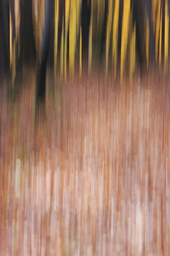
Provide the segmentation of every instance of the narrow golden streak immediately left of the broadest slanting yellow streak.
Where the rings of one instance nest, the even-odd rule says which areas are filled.
[[[114,78],[116,78],[116,70],[117,70],[118,25],[119,25],[119,0],[115,0],[115,8],[114,8],[114,16],[113,16]]]

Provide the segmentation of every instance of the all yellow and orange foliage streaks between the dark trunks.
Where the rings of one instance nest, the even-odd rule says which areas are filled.
[[[158,59],[159,51],[159,67],[161,67],[161,39],[162,39],[162,2],[163,0],[152,0],[152,20],[153,20],[153,33],[155,34],[155,55],[156,61]],[[42,31],[44,24],[44,10],[45,0],[32,0],[33,17],[34,17],[34,36],[36,38],[36,49],[40,56]],[[64,17],[62,20],[62,38],[61,38],[61,54],[60,54],[60,75],[66,79],[66,64],[67,64],[67,41],[69,32],[69,70],[74,75],[74,62],[75,53],[77,47],[77,39],[80,33],[79,40],[79,75],[82,75],[82,28],[80,26],[80,13],[81,13],[82,0],[65,0],[65,27]],[[113,13],[114,6],[114,13]],[[107,17],[107,31],[106,31],[106,71],[108,70],[108,56],[110,49],[111,39],[111,26],[113,19],[113,45],[112,45],[112,57],[114,61],[114,70],[116,77],[117,58],[118,58],[118,29],[119,29],[119,0],[108,0],[108,17]],[[146,10],[146,9],[145,9]],[[20,0],[14,1],[15,12],[15,30],[16,38],[12,42],[12,23],[10,12],[10,67],[12,70],[12,76],[15,76],[15,48],[20,43],[19,28],[20,28]],[[58,47],[58,24],[59,24],[59,0],[55,0],[55,18],[54,18],[54,76],[57,66],[57,47]],[[96,40],[98,47],[98,40],[101,40],[102,25],[105,15],[105,0],[91,0],[91,21],[89,28],[89,49],[88,49],[88,65],[89,72],[91,73],[92,63],[92,42]],[[130,0],[123,0],[123,15],[122,15],[122,41],[121,41],[121,79],[124,72],[125,58],[127,55],[127,44],[130,41],[130,78],[135,68],[135,46],[136,46],[136,25],[132,28],[132,22],[130,21]],[[168,58],[168,46],[169,46],[169,13],[168,13],[168,1],[165,0],[165,25],[164,25],[164,70],[167,70],[167,58]],[[130,29],[133,29],[131,32]],[[65,29],[65,30],[64,30]],[[68,31],[69,29],[69,31]],[[149,66],[149,19],[145,12],[145,46],[147,57],[147,68]],[[130,37],[129,37],[130,35]],[[143,40],[143,38],[141,38]]]

